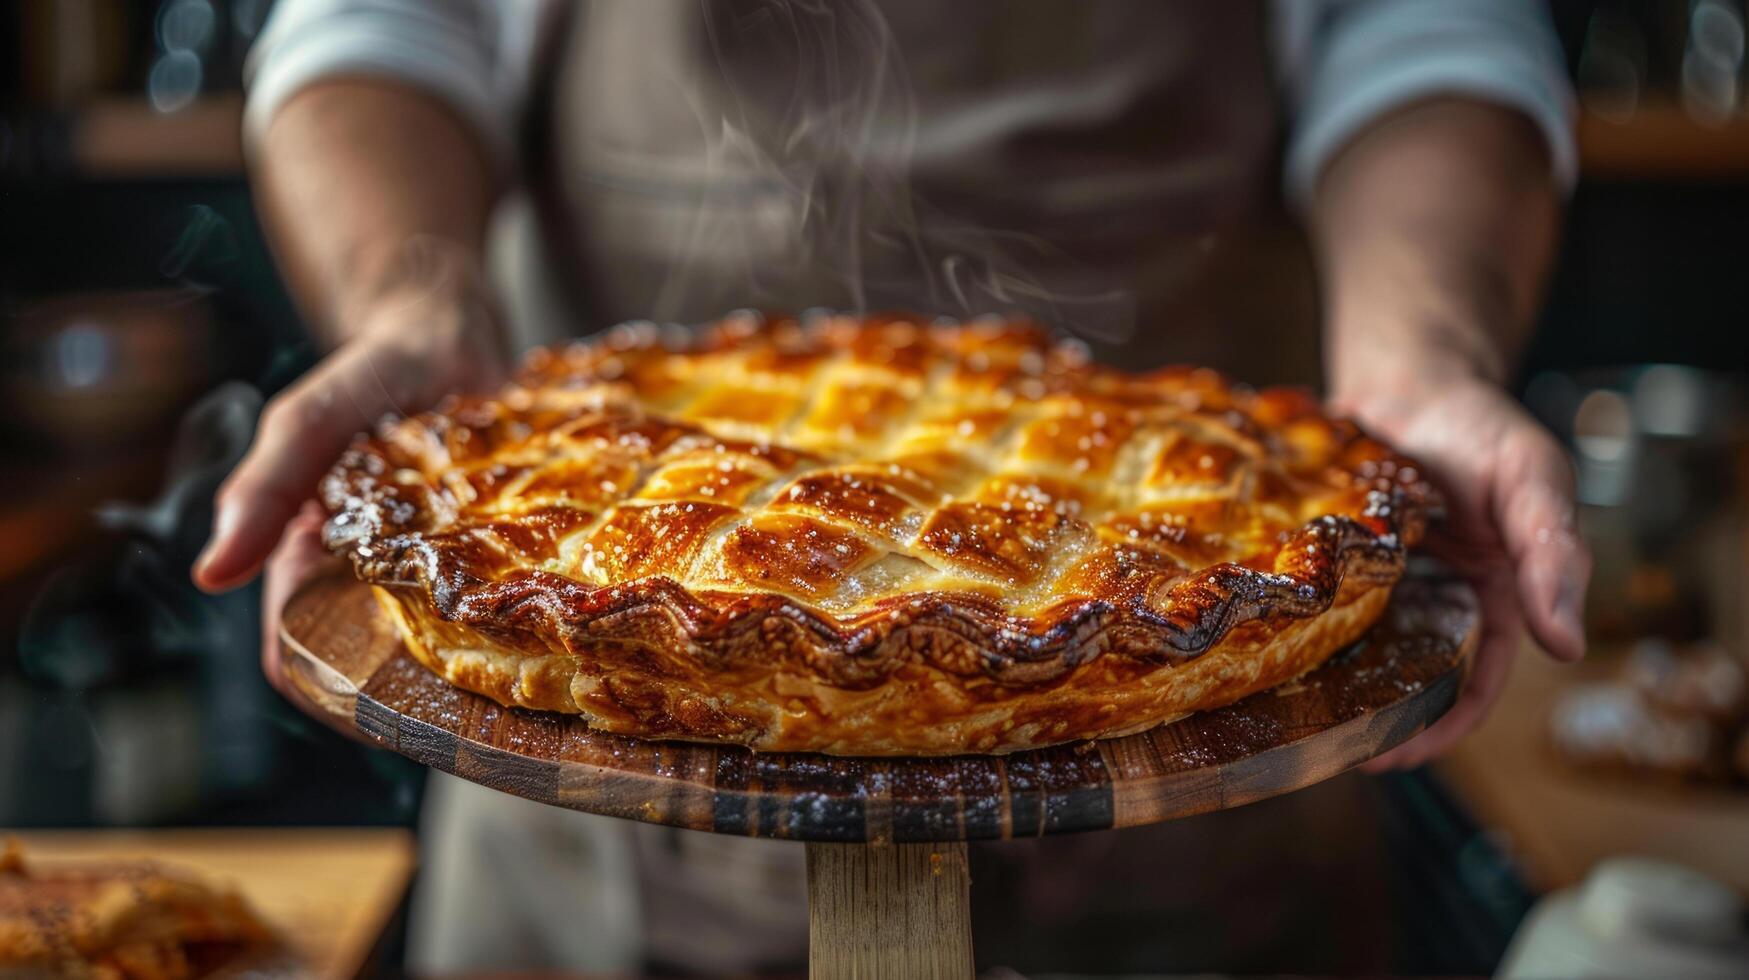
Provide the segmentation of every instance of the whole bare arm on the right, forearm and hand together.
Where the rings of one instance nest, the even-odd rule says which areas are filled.
[[[1473,726],[1525,626],[1585,651],[1590,555],[1560,446],[1501,388],[1541,294],[1558,200],[1544,142],[1480,102],[1411,105],[1326,168],[1312,234],[1331,399],[1418,457],[1450,518],[1434,542],[1483,598],[1483,646],[1457,707],[1383,765],[1413,765]]]

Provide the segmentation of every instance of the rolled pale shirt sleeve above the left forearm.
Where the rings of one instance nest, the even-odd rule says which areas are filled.
[[[540,7],[542,0],[278,0],[243,66],[245,147],[310,82],[381,75],[444,100],[509,168]]]

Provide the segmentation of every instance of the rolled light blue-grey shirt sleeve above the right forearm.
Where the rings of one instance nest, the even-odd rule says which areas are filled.
[[[1572,91],[1539,0],[1275,0],[1275,54],[1293,128],[1282,170],[1303,208],[1324,164],[1368,122],[1434,94],[1525,114],[1555,177],[1578,175]]]

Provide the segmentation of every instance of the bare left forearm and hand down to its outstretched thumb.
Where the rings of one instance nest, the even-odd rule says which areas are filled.
[[[280,268],[334,350],[268,404],[220,488],[194,565],[210,590],[255,576],[355,432],[488,385],[504,364],[479,273],[495,186],[442,102],[320,80],[275,114],[252,163]]]

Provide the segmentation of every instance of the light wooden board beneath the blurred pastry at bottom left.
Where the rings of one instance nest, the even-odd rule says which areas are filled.
[[[299,976],[353,976],[413,877],[402,830],[21,831],[24,859],[152,859],[236,887],[278,933]]]

